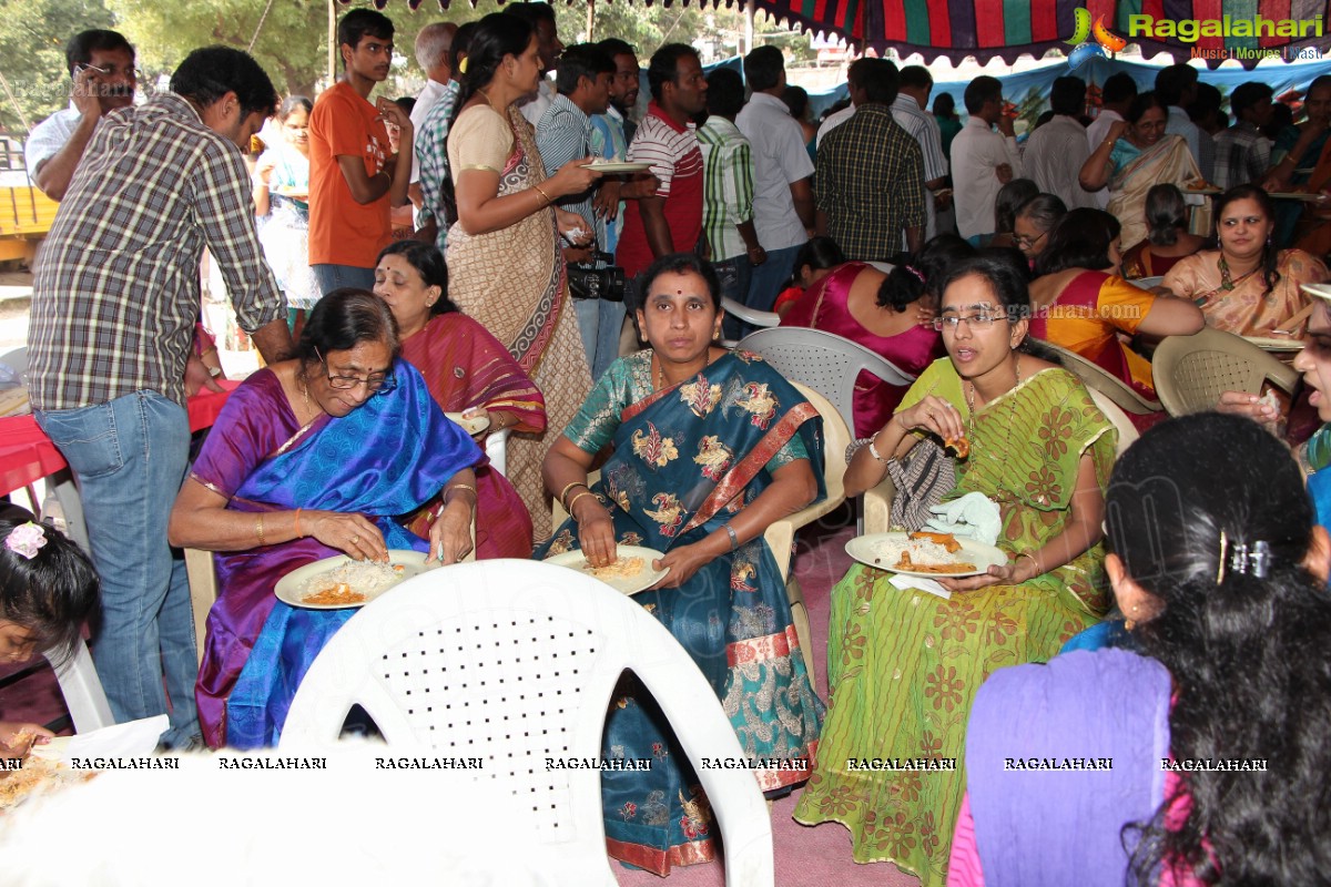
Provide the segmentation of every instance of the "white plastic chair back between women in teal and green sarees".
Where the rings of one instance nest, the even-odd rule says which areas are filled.
[[[744,336],[736,346],[763,355],[777,372],[813,388],[855,428],[855,380],[866,370],[888,384],[909,386],[914,376],[845,336],[808,327],[776,327]]]

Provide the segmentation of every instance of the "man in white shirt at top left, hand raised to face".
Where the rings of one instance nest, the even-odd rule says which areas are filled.
[[[69,108],[37,124],[24,145],[28,178],[61,201],[97,122],[134,104],[134,48],[114,31],[83,31],[65,45],[73,89]]]

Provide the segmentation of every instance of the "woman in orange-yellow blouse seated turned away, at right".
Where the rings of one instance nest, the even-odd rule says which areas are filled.
[[[1155,398],[1151,363],[1126,336],[1193,335],[1206,326],[1191,302],[1151,295],[1118,277],[1118,219],[1098,209],[1074,209],[1058,223],[1036,259],[1030,283],[1030,335],[1075,351]]]

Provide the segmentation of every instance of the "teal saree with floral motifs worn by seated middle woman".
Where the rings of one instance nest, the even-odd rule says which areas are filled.
[[[765,469],[793,438],[823,489],[817,411],[755,355],[727,355],[692,380],[631,403],[594,492],[616,540],[669,551],[723,527],[771,484]],[[538,551],[578,548],[566,521]],[[785,584],[761,537],[704,565],[681,588],[634,597],[712,684],[765,791],[808,778],[823,719],[791,620]],[[603,755],[650,759],[648,771],[602,773],[611,856],[660,875],[715,858],[713,819],[669,725],[630,678],[616,689]],[[735,766],[735,765],[731,765]],[[752,765],[751,765],[752,766]]]

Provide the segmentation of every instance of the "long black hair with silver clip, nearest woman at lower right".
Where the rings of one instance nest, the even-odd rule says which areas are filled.
[[[1181,774],[1174,797],[1121,832],[1135,883],[1157,883],[1162,866],[1205,884],[1326,880],[1331,597],[1303,565],[1314,520],[1288,449],[1240,416],[1161,423],[1114,465],[1105,524],[1127,578],[1159,604],[1133,638],[1173,678],[1170,753],[1271,762]],[[1231,560],[1259,540],[1264,576]]]

